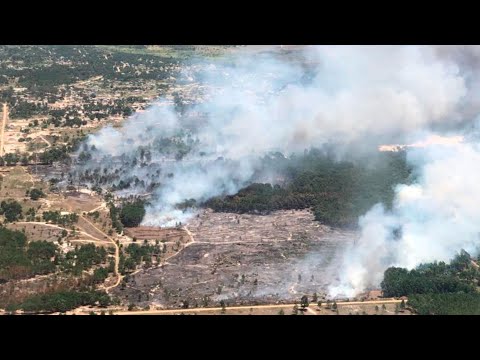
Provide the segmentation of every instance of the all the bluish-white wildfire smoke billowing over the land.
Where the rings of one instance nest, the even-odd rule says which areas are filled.
[[[181,117],[160,99],[122,128],[90,136],[82,151],[91,158],[80,154],[84,162],[73,176],[119,194],[152,193],[145,225],[185,222],[194,212],[179,203],[236,193],[271,151],[288,156],[335,144],[340,159],[352,149],[431,132],[462,134],[480,105],[478,53],[475,47],[320,46],[306,47],[301,61],[244,53],[186,74],[207,94]],[[418,182],[396,188],[391,211],[379,204],[360,218],[361,239],[345,253],[332,295],[378,286],[392,265],[448,260],[460,248],[475,253],[479,160],[474,140],[409,151]]]

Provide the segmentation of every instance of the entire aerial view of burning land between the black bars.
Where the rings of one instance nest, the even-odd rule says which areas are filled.
[[[478,46],[0,45],[0,315],[480,315],[479,89]]]

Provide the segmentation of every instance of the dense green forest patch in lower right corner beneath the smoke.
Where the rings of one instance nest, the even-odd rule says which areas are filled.
[[[408,305],[422,315],[480,314],[479,285],[479,267],[465,251],[450,264],[422,264],[410,271],[391,267],[381,284],[384,296],[408,296]]]

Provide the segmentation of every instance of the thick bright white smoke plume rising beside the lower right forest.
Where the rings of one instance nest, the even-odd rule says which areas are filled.
[[[397,186],[392,211],[378,204],[360,219],[360,239],[344,254],[332,296],[378,287],[390,266],[448,262],[461,249],[478,254],[480,146],[432,146],[411,151],[408,161],[419,169],[418,180]]]

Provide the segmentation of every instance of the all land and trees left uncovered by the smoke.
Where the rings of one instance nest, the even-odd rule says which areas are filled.
[[[70,174],[95,151],[82,143],[88,134],[121,126],[159,97],[184,114],[202,101],[195,75],[242,51],[298,61],[294,47],[0,46],[0,100],[9,111],[0,156],[4,313],[475,313],[480,275],[469,255],[471,263],[464,256],[444,270],[387,270],[385,299],[373,291],[348,302],[326,296],[358,216],[378,202],[390,207],[394,185],[412,180],[403,152],[373,162],[337,162],[324,149],[271,154],[237,194],[179,204],[198,216],[172,228],[140,226],[160,184],[121,179],[131,162]],[[196,57],[204,60],[192,65]],[[160,145],[176,159],[189,151],[175,139]],[[149,150],[129,161],[156,170]],[[280,179],[262,181],[266,170]],[[144,196],[121,195],[131,188]]]

